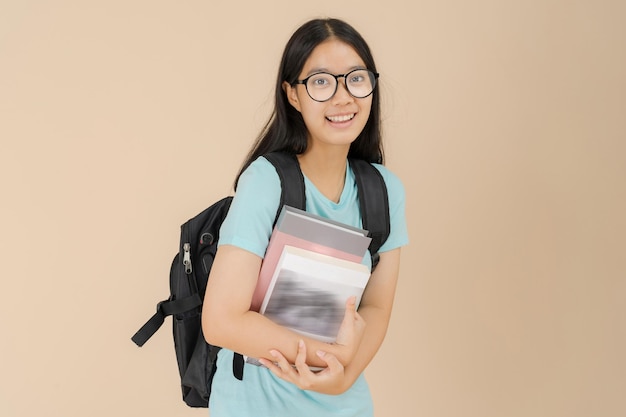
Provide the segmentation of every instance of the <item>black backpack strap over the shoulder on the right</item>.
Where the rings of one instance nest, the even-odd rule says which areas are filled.
[[[372,271],[380,258],[378,250],[389,237],[389,198],[387,186],[380,171],[362,159],[350,159],[359,192],[363,228],[368,230],[372,241],[369,246],[372,255]]]

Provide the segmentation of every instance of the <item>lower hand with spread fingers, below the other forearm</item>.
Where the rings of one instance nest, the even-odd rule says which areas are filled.
[[[337,395],[352,385],[346,381],[343,365],[331,353],[318,351],[317,356],[326,363],[327,367],[321,371],[312,371],[306,364],[306,345],[303,340],[298,343],[295,365],[290,364],[277,350],[271,350],[270,355],[273,361],[268,359],[259,359],[259,361],[274,375],[291,382],[300,389]]]

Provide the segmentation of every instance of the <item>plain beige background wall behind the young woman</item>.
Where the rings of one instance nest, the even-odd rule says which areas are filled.
[[[171,322],[129,338],[326,15],[371,44],[408,195],[377,415],[626,415],[625,5],[1,0],[0,415],[206,415]]]

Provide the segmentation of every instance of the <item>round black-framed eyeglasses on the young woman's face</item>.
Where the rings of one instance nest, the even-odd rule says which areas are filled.
[[[343,78],[348,93],[354,98],[365,98],[372,94],[376,87],[379,74],[366,69],[355,69],[346,74],[329,74],[318,72],[309,75],[304,80],[297,80],[295,84],[304,84],[306,92],[315,101],[330,100],[337,92],[339,78]]]

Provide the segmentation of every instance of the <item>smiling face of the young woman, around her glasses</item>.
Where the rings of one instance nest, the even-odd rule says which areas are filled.
[[[365,69],[365,63],[347,43],[330,39],[319,44],[307,59],[299,80],[318,73],[346,74]],[[309,146],[350,147],[361,133],[370,115],[372,95],[355,98],[346,90],[345,79],[339,78],[337,92],[328,101],[318,102],[307,93],[303,84],[283,84],[289,103],[302,114],[308,130]]]

